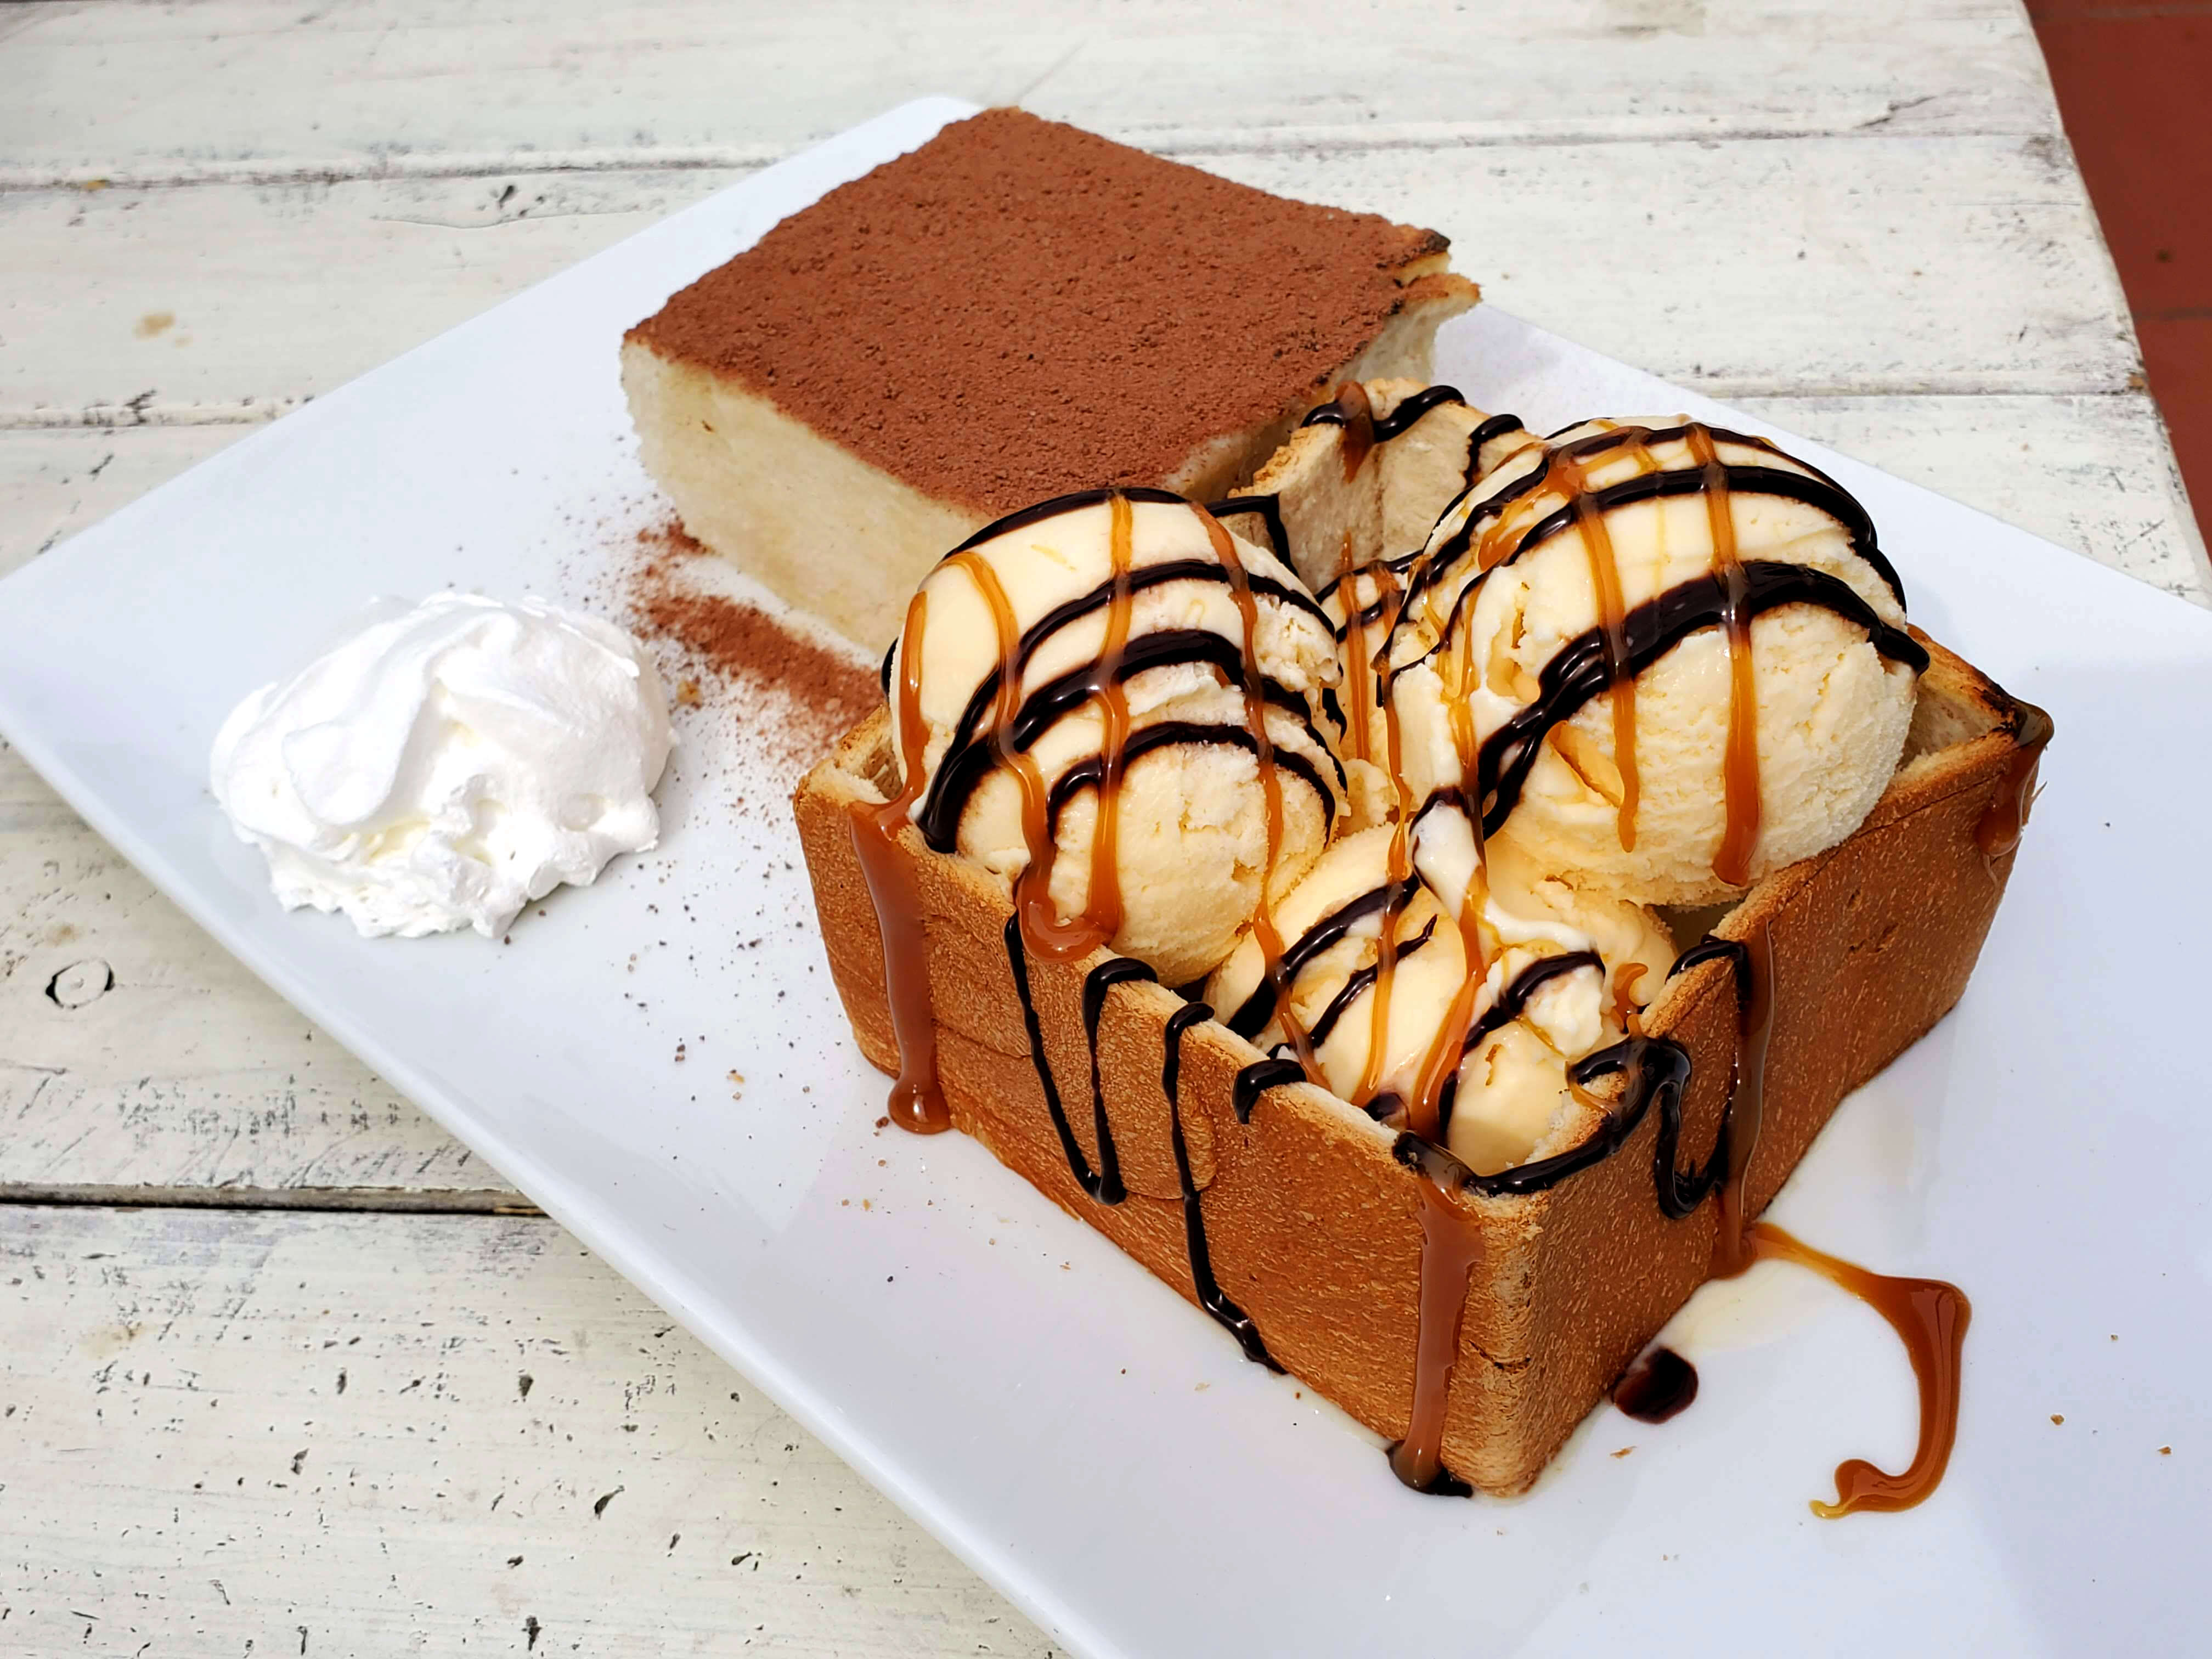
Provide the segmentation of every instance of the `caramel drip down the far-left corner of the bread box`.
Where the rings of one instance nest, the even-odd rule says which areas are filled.
[[[876,907],[876,931],[883,938],[883,991],[891,1004],[891,1035],[898,1042],[898,1082],[891,1084],[891,1121],[916,1135],[938,1135],[953,1126],[951,1108],[938,1084],[938,1026],[929,1004],[929,938],[922,933],[922,907],[914,894],[914,867],[898,832],[922,794],[922,750],[929,728],[922,723],[922,626],[929,617],[929,595],[916,593],[907,604],[907,653],[898,672],[898,759],[902,765],[898,792],[878,805],[852,803],[852,847],[867,880],[867,898]]]

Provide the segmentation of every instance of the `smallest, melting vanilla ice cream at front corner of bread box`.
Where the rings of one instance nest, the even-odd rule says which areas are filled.
[[[1332,1093],[1407,1121],[1469,1168],[1524,1164],[1573,1106],[1568,1066],[1659,995],[1674,942],[1648,909],[1579,894],[1511,854],[1491,858],[1480,925],[1462,929],[1394,834],[1345,836],[1276,907],[1287,1011],[1256,940],[1221,964],[1206,1000],[1272,1053],[1296,1053],[1303,1037]],[[1469,942],[1482,951],[1473,975]]]

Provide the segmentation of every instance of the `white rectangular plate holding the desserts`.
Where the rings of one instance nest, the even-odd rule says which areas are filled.
[[[1907,1515],[1805,1509],[1843,1455],[1905,1462],[1913,1396],[1887,1329],[1785,1267],[1679,1321],[1705,1387],[1686,1416],[1601,1407],[1528,1498],[1429,1500],[982,1148],[878,1133],[790,816],[726,706],[684,726],[661,849],[511,947],[276,909],[204,781],[230,703],[378,593],[588,597],[613,560],[591,526],[650,491],[622,330],[962,113],[909,104],[783,161],[35,560],[0,584],[0,728],[1077,1652],[2185,1646],[2212,1458],[2212,617],[1840,456],[1794,445],[1871,509],[1916,619],[2059,730],[1966,1000],[1776,1208],[1973,1296],[1958,1455]],[[1767,429],[1489,310],[1444,334],[1438,378],[1540,431],[1681,409]]]

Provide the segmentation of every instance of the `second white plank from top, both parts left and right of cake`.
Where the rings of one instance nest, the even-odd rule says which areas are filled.
[[[1436,223],[1495,303],[1721,396],[2119,392],[2139,367],[2039,137],[1192,159]],[[0,425],[281,411],[732,177],[0,192]]]

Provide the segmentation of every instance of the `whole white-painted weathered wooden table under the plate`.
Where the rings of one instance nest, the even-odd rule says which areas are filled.
[[[2015,0],[95,0],[0,86],[0,571],[942,91],[2212,597]],[[1051,1652],[0,750],[0,1650],[465,1644]]]

